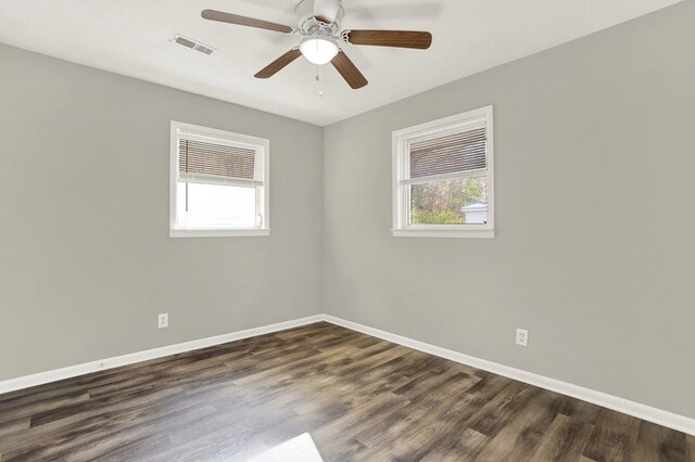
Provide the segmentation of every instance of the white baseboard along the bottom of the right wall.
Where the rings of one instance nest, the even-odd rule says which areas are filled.
[[[614,411],[622,412],[623,414],[654,422],[656,424],[695,436],[695,419],[674,414],[669,411],[664,411],[661,409],[653,408],[650,406],[642,405],[629,399],[619,398],[606,393],[584,388],[579,385],[557,381],[544,375],[539,375],[532,372],[522,371],[520,369],[510,368],[508,365],[498,364],[496,362],[486,361],[484,359],[426,344],[424,342],[415,341],[402,335],[380,331],[378,329],[369,328],[356,322],[336,318],[334,316],[324,315],[324,320],[330,322],[331,324],[340,325],[353,331],[371,335],[374,337],[393,342],[394,344],[403,345],[408,348],[439,356],[440,358],[445,358],[455,362],[460,362],[463,364],[482,369],[483,371],[492,372],[497,375],[504,375],[505,377],[514,378],[515,381],[549,389],[551,392],[556,392],[561,395],[571,396],[572,398],[581,399],[582,401],[587,401],[597,406],[602,406],[604,408],[612,409]]]

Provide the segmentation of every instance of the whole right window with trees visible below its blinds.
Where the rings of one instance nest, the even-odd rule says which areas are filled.
[[[494,238],[492,106],[393,132],[393,235]]]

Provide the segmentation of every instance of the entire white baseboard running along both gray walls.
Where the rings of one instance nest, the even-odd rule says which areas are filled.
[[[337,318],[330,315],[316,315],[316,316],[301,318],[292,321],[279,322],[277,324],[270,324],[270,325],[265,325],[261,328],[232,332],[230,334],[201,338],[198,341],[169,345],[161,348],[149,349],[146,351],[134,352],[130,355],[117,356],[114,358],[103,359],[100,361],[91,361],[91,362],[86,362],[84,364],[77,364],[77,365],[71,365],[68,368],[56,369],[53,371],[39,372],[37,374],[25,375],[16,378],[10,378],[10,380],[0,382],[0,394],[17,390],[22,388],[28,388],[36,385],[42,385],[46,383],[55,382],[63,378],[70,378],[77,375],[84,375],[91,372],[117,368],[119,365],[126,365],[126,364],[132,364],[135,362],[147,361],[149,359],[162,358],[169,355],[191,351],[191,350],[205,348],[214,345],[225,344],[228,342],[235,342],[243,338],[254,337],[257,335],[269,334],[273,332],[283,331],[286,329],[299,328],[302,325],[306,325],[306,324],[311,324],[313,322],[319,322],[319,321],[327,321],[327,322],[330,322],[331,324],[340,325],[346,329],[351,329],[353,331],[362,332],[367,335],[382,338],[384,341],[393,342],[395,344],[403,345],[408,348],[413,348],[430,355],[439,356],[440,358],[445,358],[452,361],[460,362],[463,364],[471,365],[473,368],[482,369],[483,371],[492,372],[498,375],[504,375],[505,377],[514,378],[519,382],[523,382],[541,388],[549,389],[552,392],[559,393],[561,395],[571,396],[572,398],[581,399],[583,401],[592,402],[594,405],[602,406],[604,408],[612,409],[615,411],[622,412],[628,415],[633,415],[635,418],[643,419],[645,421],[654,422],[656,424],[664,425],[669,428],[678,429],[679,432],[687,433],[690,435],[695,435],[695,419],[674,414],[672,412],[664,411],[661,409],[653,408],[650,406],[642,405],[640,402],[619,398],[617,396],[608,395],[602,392],[584,388],[579,385],[557,381],[555,378],[546,377],[544,375],[539,375],[532,372],[522,371],[520,369],[510,368],[508,365],[500,364],[496,362],[486,361],[484,359],[476,358],[473,356],[468,356],[468,355],[464,355],[462,352],[453,351],[446,348],[441,348],[434,345],[426,344],[424,342],[415,341],[413,338],[404,337],[402,335],[392,334],[390,332],[381,331],[379,329],[374,329],[356,322],[346,321],[344,319]]]

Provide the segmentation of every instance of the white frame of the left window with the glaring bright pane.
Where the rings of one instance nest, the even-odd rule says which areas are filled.
[[[256,189],[256,207],[263,217],[258,227],[180,227],[177,219],[178,182],[178,136],[180,132],[216,140],[227,140],[235,144],[245,144],[251,149],[263,150],[263,194]],[[265,236],[270,234],[270,141],[232,131],[218,130],[199,125],[172,120],[170,127],[170,170],[169,170],[169,236],[170,238],[225,238],[225,236]],[[227,184],[233,184],[228,181]],[[240,185],[247,185],[240,181]],[[261,197],[261,195],[263,197]]]

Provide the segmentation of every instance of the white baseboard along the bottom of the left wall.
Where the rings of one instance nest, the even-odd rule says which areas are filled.
[[[247,329],[244,331],[232,332],[230,334],[216,335],[214,337],[200,338],[198,341],[185,342],[176,345],[168,345],[129,355],[116,356],[98,361],[85,362],[83,364],[70,365],[67,368],[54,369],[52,371],[39,372],[37,374],[24,375],[0,382],[0,395],[50,382],[62,381],[77,375],[89,374],[91,372],[103,371],[117,368],[119,365],[132,364],[135,362],[150,359],[163,358],[165,356],[177,355],[179,352],[192,351],[194,349],[206,348],[214,345],[226,344],[228,342],[240,341],[242,338],[255,337],[257,335],[285,331],[286,329],[299,328],[324,320],[323,315],[309,316],[307,318],[295,319],[261,328]]]

